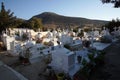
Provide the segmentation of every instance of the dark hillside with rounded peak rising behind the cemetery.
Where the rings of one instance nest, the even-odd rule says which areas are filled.
[[[41,18],[44,25],[57,25],[57,26],[80,26],[80,25],[94,25],[101,26],[107,23],[108,21],[102,20],[91,20],[80,17],[68,17],[58,15],[52,12],[44,12],[42,14],[33,16],[37,18]]]

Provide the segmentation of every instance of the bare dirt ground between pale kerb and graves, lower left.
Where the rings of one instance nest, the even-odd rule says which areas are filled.
[[[19,63],[19,58],[17,56],[9,56],[6,55],[7,53],[7,51],[0,52],[0,61],[21,73],[28,80],[46,80],[45,76],[39,76],[39,74],[47,67],[47,64],[45,64],[44,61],[41,60],[40,62],[32,63],[30,65],[22,65]]]

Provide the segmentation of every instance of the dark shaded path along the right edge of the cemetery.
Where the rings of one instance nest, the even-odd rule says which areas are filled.
[[[105,49],[105,64],[89,80],[120,80],[120,40]]]

